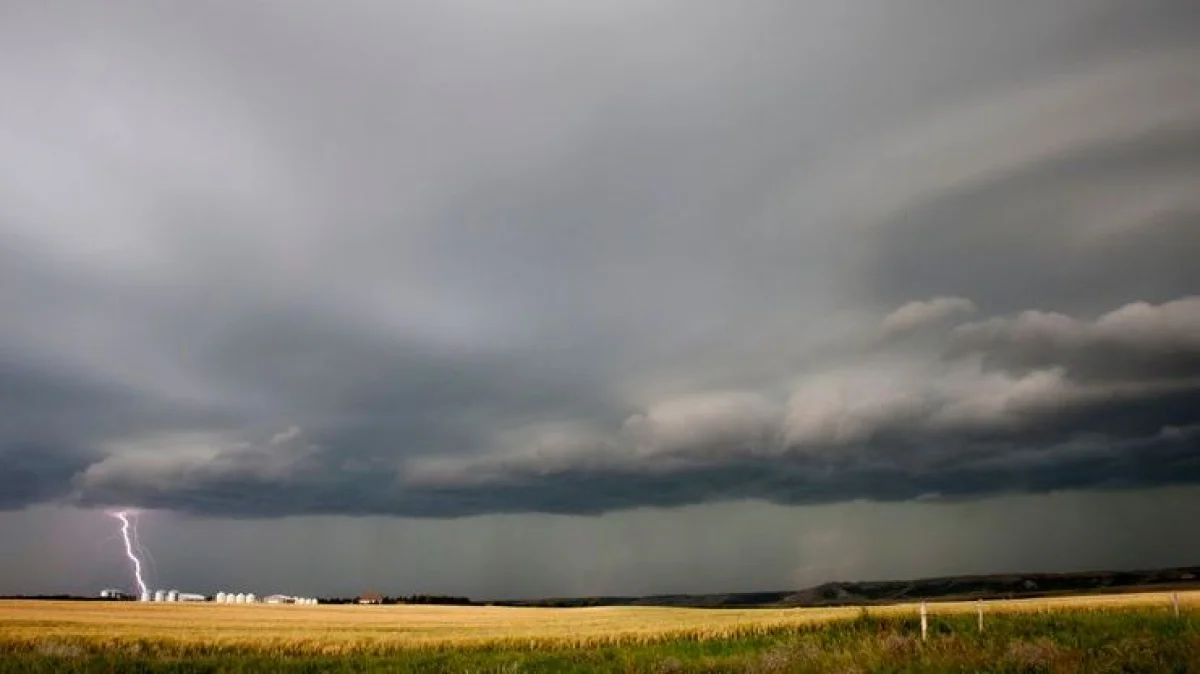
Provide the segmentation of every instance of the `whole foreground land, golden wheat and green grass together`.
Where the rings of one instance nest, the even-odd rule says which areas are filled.
[[[1200,596],[790,610],[0,603],[0,672],[1200,672]]]

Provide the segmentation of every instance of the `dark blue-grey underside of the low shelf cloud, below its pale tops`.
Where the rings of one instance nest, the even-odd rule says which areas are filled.
[[[1170,403],[1175,414],[1169,411]],[[1138,419],[1129,408],[1096,410],[1086,434],[1074,427],[1042,428],[989,440],[970,433],[896,432],[823,455],[728,456],[670,467],[510,465],[508,473],[467,483],[400,485],[385,471],[348,467],[338,467],[336,475],[330,475],[330,467],[306,470],[296,464],[271,471],[264,465],[274,459],[215,457],[202,469],[188,470],[186,477],[163,482],[161,474],[139,476],[128,465],[112,482],[89,489],[82,505],[136,501],[150,508],[226,517],[332,512],[440,518],[600,514],[740,499],[810,505],[1188,485],[1200,480],[1200,427],[1169,423],[1195,421],[1196,403],[1200,393],[1195,392],[1157,399],[1141,410],[1148,419]],[[1128,416],[1114,419],[1112,411]],[[1138,431],[1152,434],[1133,434]],[[486,470],[474,467],[472,473]]]

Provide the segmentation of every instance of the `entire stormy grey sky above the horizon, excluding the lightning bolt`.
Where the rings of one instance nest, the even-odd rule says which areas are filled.
[[[0,4],[0,592],[1200,561],[1200,7]]]

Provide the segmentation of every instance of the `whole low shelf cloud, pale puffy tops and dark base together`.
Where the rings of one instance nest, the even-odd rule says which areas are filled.
[[[1194,383],[1078,389],[1037,374],[842,399],[820,407],[820,417],[815,403],[793,396],[791,411],[774,419],[769,405],[755,411],[750,401],[692,401],[691,415],[652,410],[626,421],[628,433],[548,429],[516,451],[416,457],[407,468],[276,443],[163,467],[134,455],[91,467],[80,503],[252,517],[598,514],[737,499],[892,501],[1200,479]]]

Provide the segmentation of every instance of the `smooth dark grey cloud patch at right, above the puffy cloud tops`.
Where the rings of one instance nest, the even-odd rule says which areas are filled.
[[[889,216],[874,288],[898,302],[966,288],[991,312],[1110,311],[1200,288],[1200,122],[1006,169]]]

